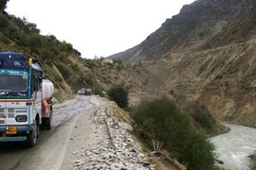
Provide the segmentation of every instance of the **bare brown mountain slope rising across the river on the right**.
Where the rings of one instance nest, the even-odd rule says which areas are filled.
[[[134,91],[171,93],[220,120],[256,127],[255,17],[254,0],[197,0],[110,59],[133,65],[124,79]]]

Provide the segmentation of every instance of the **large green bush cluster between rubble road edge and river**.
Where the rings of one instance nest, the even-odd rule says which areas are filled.
[[[213,144],[192,127],[189,115],[179,110],[173,100],[162,96],[143,101],[132,111],[132,117],[144,135],[163,144],[188,169],[213,168]]]

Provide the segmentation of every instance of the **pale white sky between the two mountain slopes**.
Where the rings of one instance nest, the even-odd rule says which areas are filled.
[[[82,58],[108,57],[144,41],[194,0],[10,0],[7,11],[26,17]]]

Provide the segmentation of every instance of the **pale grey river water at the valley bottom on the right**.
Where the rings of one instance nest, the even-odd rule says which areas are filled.
[[[246,170],[250,153],[256,150],[256,128],[225,124],[230,127],[229,133],[210,138],[216,146],[218,164],[227,170]]]

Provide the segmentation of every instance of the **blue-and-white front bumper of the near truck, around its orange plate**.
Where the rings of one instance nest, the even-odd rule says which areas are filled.
[[[15,127],[15,126],[9,126]],[[33,129],[33,126],[16,126],[15,134],[7,134],[9,127],[0,126],[0,142],[23,142],[27,140],[27,133]]]

